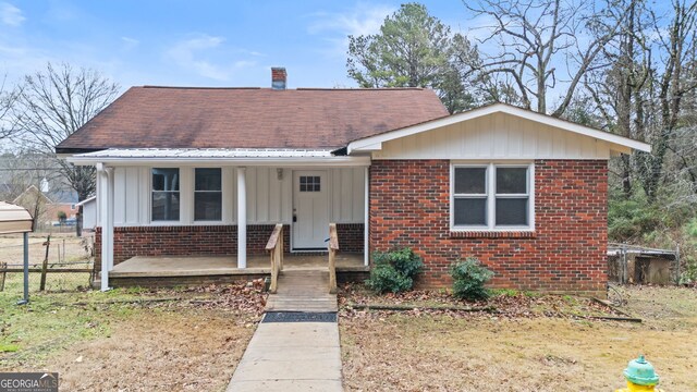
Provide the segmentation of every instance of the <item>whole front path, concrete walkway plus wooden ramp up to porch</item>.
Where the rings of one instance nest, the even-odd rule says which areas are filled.
[[[326,270],[283,271],[228,391],[343,391],[339,326],[335,318],[316,322],[337,313],[337,295],[328,291]],[[267,322],[303,314],[306,321]]]

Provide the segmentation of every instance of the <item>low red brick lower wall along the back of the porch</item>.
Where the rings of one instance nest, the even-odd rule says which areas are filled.
[[[265,254],[272,224],[247,225],[247,253]],[[337,224],[341,252],[363,253],[363,224]],[[285,252],[290,252],[290,225],[283,229]],[[101,270],[101,228],[95,234],[96,268]],[[114,228],[113,262],[134,256],[236,255],[236,225],[126,226]]]

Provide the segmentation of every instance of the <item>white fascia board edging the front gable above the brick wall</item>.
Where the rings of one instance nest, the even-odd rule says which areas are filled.
[[[613,149],[616,149],[621,152],[624,152],[627,148],[644,151],[644,152],[651,152],[651,145],[647,143],[634,140],[628,137],[614,135],[614,134],[599,131],[599,130],[594,130],[588,126],[575,124],[575,123],[560,120],[550,115],[536,113],[530,110],[525,110],[525,109],[516,108],[516,107],[504,105],[504,103],[494,103],[480,109],[473,109],[467,112],[452,114],[442,119],[432,120],[423,124],[412,125],[401,130],[391,131],[380,135],[369,136],[363,139],[354,140],[348,144],[347,150],[348,150],[348,154],[351,154],[351,151],[362,151],[364,150],[364,148],[368,148],[367,150],[371,150],[370,148],[372,146],[381,147],[380,144],[384,142],[415,135],[421,132],[436,130],[439,127],[456,124],[463,121],[468,121],[468,120],[477,119],[477,118],[485,117],[488,114],[493,114],[493,113],[511,114],[522,119],[526,119],[526,120],[530,120],[530,121],[546,124],[549,126],[553,126],[560,130],[574,132],[584,136],[604,140],[614,145]]]

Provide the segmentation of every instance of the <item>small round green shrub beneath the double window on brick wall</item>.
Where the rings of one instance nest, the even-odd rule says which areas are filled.
[[[475,257],[454,262],[450,266],[450,275],[453,278],[453,294],[462,299],[486,299],[489,291],[484,286],[493,272],[482,266]]]

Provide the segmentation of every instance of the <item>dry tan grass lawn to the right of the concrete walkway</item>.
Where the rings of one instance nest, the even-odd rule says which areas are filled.
[[[644,353],[662,388],[697,390],[697,292],[652,289],[625,290],[641,324],[390,313],[342,318],[345,388],[609,391],[624,385],[622,370]]]

